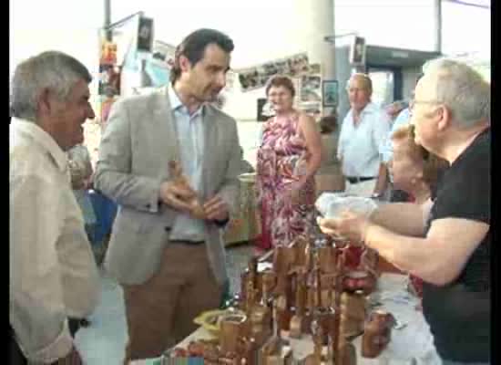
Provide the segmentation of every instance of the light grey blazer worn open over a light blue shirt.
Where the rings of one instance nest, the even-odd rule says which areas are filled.
[[[237,124],[222,111],[205,107],[202,199],[215,194],[236,214],[239,202],[240,144]],[[169,229],[177,214],[158,203],[160,183],[169,180],[168,162],[179,159],[176,125],[167,88],[118,100],[110,110],[94,177],[97,190],[118,203],[105,258],[120,284],[141,284],[160,266]],[[220,227],[206,224],[207,253],[220,284],[227,279]],[[187,257],[189,262],[189,257]]]

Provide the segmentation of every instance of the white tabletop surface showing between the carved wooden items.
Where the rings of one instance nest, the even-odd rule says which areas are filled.
[[[383,353],[376,359],[361,356],[362,336],[353,339],[356,348],[358,365],[439,365],[441,360],[436,354],[433,337],[424,321],[423,313],[416,310],[419,300],[406,290],[407,277],[398,274],[384,273],[378,288],[373,293],[371,302],[379,302],[380,306],[394,315],[398,325],[393,329],[392,340]],[[213,336],[205,328],[199,328],[188,338],[179,343],[179,347],[187,347],[191,340],[212,339]],[[303,335],[302,339],[289,339],[294,353],[295,363],[301,363],[312,353],[311,337]],[[138,360],[132,365],[159,364],[159,360]]]

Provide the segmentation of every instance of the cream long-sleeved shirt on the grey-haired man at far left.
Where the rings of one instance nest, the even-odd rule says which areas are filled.
[[[66,318],[97,306],[99,276],[66,153],[27,120],[9,140],[9,321],[28,360],[53,362],[73,346]]]

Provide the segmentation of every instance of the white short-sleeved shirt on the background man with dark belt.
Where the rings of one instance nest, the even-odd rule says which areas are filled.
[[[360,121],[353,125],[353,111],[344,117],[337,155],[343,161],[344,176],[375,177],[383,145],[390,130],[388,115],[372,102],[363,108]]]

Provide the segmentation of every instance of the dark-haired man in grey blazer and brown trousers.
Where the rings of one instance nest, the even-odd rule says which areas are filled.
[[[199,29],[177,48],[167,87],[110,111],[95,187],[119,205],[105,266],[124,289],[125,363],[159,356],[220,304],[228,280],[221,228],[238,208],[240,144],[235,120],[211,102],[232,50],[230,37]],[[191,188],[169,176],[173,160]],[[204,220],[189,214],[192,193]]]

